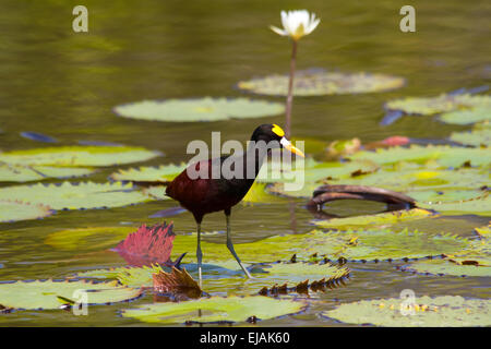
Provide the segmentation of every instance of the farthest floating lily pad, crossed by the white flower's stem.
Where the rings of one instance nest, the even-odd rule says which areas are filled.
[[[286,96],[289,75],[270,75],[241,81],[238,87],[255,94]],[[404,85],[403,77],[369,74],[328,72],[321,69],[297,71],[294,81],[295,96],[322,96],[384,92]]]

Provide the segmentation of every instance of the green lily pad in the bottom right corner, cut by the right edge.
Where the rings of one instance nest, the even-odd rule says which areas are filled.
[[[415,298],[415,303],[409,305],[407,299],[380,299],[340,304],[322,315],[349,324],[391,327],[490,326],[491,301],[459,296],[423,296]]]

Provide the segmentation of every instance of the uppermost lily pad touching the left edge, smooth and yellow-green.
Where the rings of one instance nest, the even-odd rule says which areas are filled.
[[[161,153],[132,146],[60,146],[0,153],[0,161],[44,166],[112,166],[145,161]]]

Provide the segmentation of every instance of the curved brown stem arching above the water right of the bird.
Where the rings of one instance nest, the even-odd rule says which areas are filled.
[[[368,200],[386,203],[392,208],[414,208],[416,201],[392,190],[364,185],[322,185],[319,186],[307,203],[307,207],[320,210],[322,205],[336,200]]]

